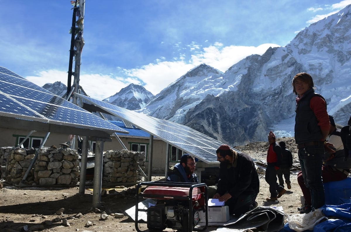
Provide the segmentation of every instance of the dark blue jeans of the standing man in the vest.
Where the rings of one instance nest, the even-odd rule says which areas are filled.
[[[325,203],[322,182],[324,145],[320,144],[300,148],[298,155],[305,186],[311,193],[311,206],[314,209],[318,209]]]

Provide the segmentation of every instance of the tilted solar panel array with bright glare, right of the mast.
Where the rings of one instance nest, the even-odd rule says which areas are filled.
[[[185,125],[147,116],[84,95],[76,95],[110,114],[120,117],[123,121],[130,122],[135,127],[145,130],[151,135],[194,155],[205,163],[217,163],[216,150],[223,143],[216,139],[201,134]]]

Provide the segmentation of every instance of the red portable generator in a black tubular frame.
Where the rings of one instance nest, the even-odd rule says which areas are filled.
[[[146,186],[144,191],[141,191]],[[135,229],[138,232],[138,213],[147,213],[148,231],[159,232],[165,228],[177,232],[192,232],[206,230],[208,226],[208,194],[204,183],[180,182],[143,182],[137,185],[135,204]],[[154,199],[155,205],[147,209],[139,209],[139,198]],[[198,226],[199,211],[205,215],[205,226]],[[203,223],[202,223],[203,224]]]

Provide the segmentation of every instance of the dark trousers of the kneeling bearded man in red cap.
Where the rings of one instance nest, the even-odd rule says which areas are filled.
[[[225,205],[229,206],[229,213],[239,217],[243,213],[247,213],[253,209],[253,203],[256,201],[257,193],[241,194],[238,198],[230,198]]]

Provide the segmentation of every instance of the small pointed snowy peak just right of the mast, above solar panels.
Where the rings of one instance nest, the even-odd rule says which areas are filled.
[[[154,95],[143,86],[130,84],[122,88],[118,93],[102,101],[118,105],[128,110],[139,110],[143,108],[153,96]]]

